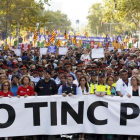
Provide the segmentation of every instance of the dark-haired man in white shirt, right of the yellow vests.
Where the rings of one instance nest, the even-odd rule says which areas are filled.
[[[128,71],[122,70],[120,72],[121,79],[119,79],[116,83],[116,91],[120,97],[125,95],[128,86],[131,86],[130,80],[128,79]]]

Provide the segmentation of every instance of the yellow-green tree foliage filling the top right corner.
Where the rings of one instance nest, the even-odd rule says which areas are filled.
[[[139,0],[104,0],[103,20],[121,24],[122,31],[140,30]]]

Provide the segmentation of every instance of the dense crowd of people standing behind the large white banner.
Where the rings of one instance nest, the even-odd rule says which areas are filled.
[[[140,95],[140,51],[105,50],[104,58],[92,59],[91,49],[68,48],[65,56],[58,53],[40,55],[39,48],[21,52],[0,51],[0,98],[62,95],[103,96]],[[94,96],[93,96],[94,98]],[[63,135],[64,136],[64,135]],[[113,140],[114,135],[106,135]],[[128,140],[128,136],[122,136]],[[13,138],[9,138],[11,140]],[[21,137],[27,139],[27,137]],[[48,136],[37,136],[47,140]],[[67,139],[67,137],[61,137]],[[84,140],[85,134],[79,134]],[[93,134],[93,140],[102,135]]]

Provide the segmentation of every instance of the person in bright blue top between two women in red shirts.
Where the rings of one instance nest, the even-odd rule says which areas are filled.
[[[12,76],[11,79],[11,91],[13,92],[14,96],[17,96],[17,90],[19,87],[19,77],[17,75]]]

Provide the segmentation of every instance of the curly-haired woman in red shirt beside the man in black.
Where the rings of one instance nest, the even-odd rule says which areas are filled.
[[[33,96],[34,95],[34,89],[30,86],[30,78],[27,75],[24,75],[21,80],[20,80],[20,84],[22,85],[21,87],[18,88],[17,91],[17,96]]]

